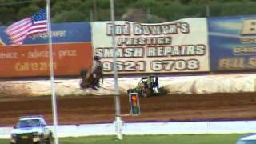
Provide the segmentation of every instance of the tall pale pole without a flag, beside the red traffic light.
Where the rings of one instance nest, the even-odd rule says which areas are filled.
[[[115,131],[117,133],[117,138],[122,140],[122,118],[120,110],[120,98],[118,89],[118,72],[117,72],[117,57],[116,57],[116,46],[115,46],[115,21],[114,21],[114,0],[110,0],[111,9],[111,21],[112,21],[112,46],[113,46],[113,56],[114,56],[114,102],[115,102]]]

